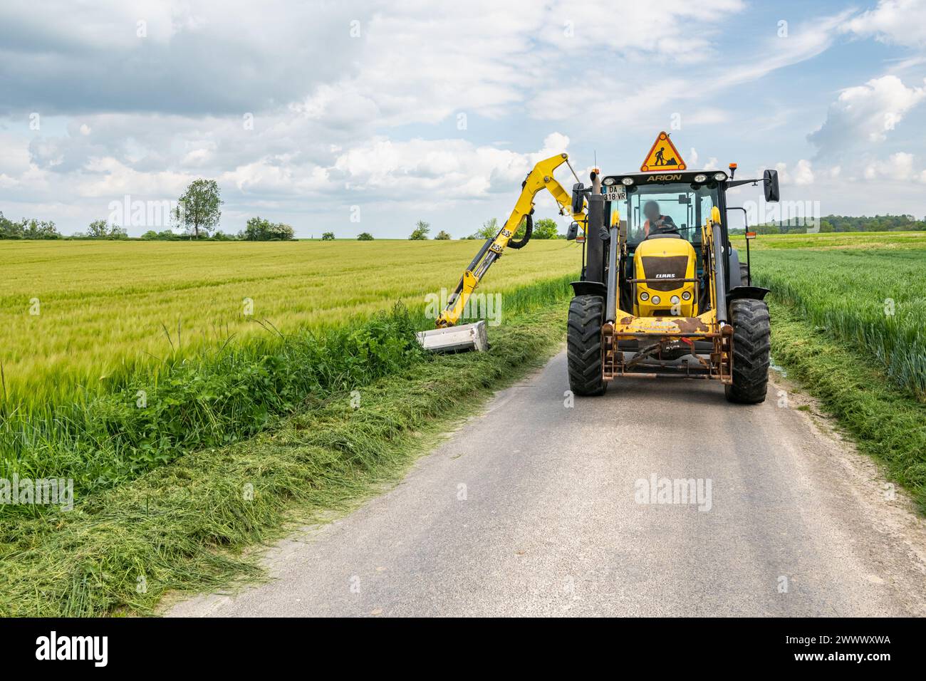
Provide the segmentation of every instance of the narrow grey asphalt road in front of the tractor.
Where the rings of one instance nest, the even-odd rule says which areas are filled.
[[[168,614],[926,614],[924,523],[801,397],[566,388],[559,354],[400,485],[270,549],[269,583]]]

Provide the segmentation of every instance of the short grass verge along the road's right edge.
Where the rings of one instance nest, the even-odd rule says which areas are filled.
[[[855,352],[795,308],[770,301],[772,357],[820,398],[859,450],[881,461],[926,513],[926,404],[895,387],[872,356]]]

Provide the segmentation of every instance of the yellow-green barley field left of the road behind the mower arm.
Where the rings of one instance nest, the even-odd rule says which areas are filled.
[[[452,290],[479,241],[2,242],[0,363],[7,403],[106,390],[140,365],[229,338],[323,330]],[[574,243],[510,251],[480,289],[577,273]],[[504,297],[503,297],[504,303]],[[503,311],[504,313],[504,311]]]

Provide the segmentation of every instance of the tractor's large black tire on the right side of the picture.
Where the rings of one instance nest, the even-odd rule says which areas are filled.
[[[727,399],[740,404],[765,401],[769,387],[771,325],[769,306],[762,300],[740,299],[730,304],[733,327],[733,384]]]

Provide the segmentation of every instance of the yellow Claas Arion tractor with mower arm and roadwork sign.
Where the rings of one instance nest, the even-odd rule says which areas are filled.
[[[582,277],[572,283],[567,336],[573,393],[603,395],[625,376],[679,376],[719,381],[732,402],[764,401],[768,289],[751,285],[748,255],[741,263],[731,246],[727,212],[742,208],[728,207],[726,193],[762,183],[766,200],[778,201],[777,172],[734,180],[735,164],[729,171],[688,170],[669,135],[660,132],[640,171],[593,170],[590,186],[577,178],[567,193],[553,177],[567,158],[547,158],[528,174],[511,216],[449,297],[438,329],[422,334],[425,347],[430,341],[440,350],[444,338],[454,349],[466,347],[468,339],[472,347],[485,346],[484,324],[457,327],[457,321],[494,260],[507,246],[530,240],[533,197],[547,189],[560,213],[573,219],[567,238],[582,241]],[[522,221],[524,237],[513,244]],[[747,227],[747,239],[752,235]]]

